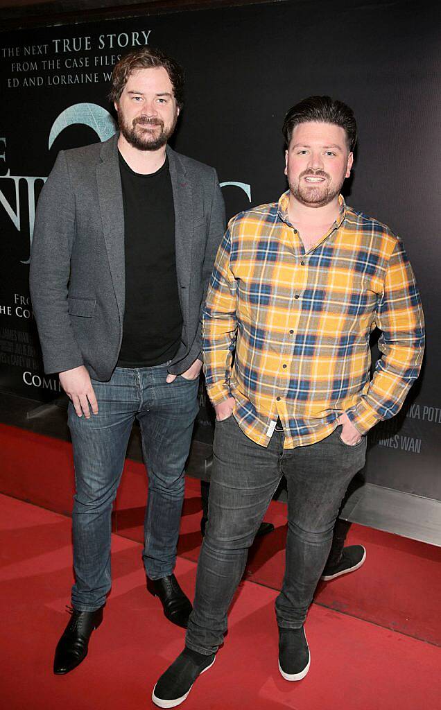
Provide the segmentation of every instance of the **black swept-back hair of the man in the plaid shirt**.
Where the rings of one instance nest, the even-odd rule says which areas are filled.
[[[295,104],[283,121],[283,136],[286,146],[289,146],[295,126],[307,121],[318,121],[323,124],[334,124],[344,129],[349,151],[353,151],[356,143],[356,120],[354,111],[342,101],[329,96],[310,96]]]

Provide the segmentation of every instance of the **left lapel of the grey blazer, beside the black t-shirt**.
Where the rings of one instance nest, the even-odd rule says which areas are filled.
[[[118,133],[102,144],[101,160],[97,165],[97,185],[104,244],[106,245],[111,279],[122,323],[126,288],[126,265],[124,261],[124,205],[117,141]]]

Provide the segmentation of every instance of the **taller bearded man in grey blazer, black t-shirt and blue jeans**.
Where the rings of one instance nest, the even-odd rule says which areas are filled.
[[[142,48],[114,67],[119,134],[61,151],[38,202],[31,296],[45,371],[70,398],[75,461],[72,618],[54,672],[84,660],[111,586],[111,506],[135,417],[148,471],[143,562],[165,616],[187,626],[175,567],[197,414],[200,316],[224,231],[216,172],[167,146],[183,72]]]

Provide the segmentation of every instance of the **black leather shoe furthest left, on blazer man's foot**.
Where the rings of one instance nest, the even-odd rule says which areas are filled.
[[[87,656],[87,646],[92,631],[102,622],[102,610],[77,611],[72,609],[72,618],[67,624],[55,649],[53,672],[56,675],[70,673]]]

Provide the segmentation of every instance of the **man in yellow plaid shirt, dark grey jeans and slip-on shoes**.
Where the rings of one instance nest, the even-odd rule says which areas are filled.
[[[401,240],[340,195],[356,142],[352,109],[310,97],[288,111],[283,134],[289,190],[231,220],[207,295],[205,376],[217,415],[209,520],[185,650],[153,691],[161,707],[180,704],[214,662],[282,475],[278,667],[288,681],[305,677],[303,624],[342,497],[364,466],[366,433],[400,410],[423,359],[423,311]],[[382,357],[371,378],[375,327]]]

